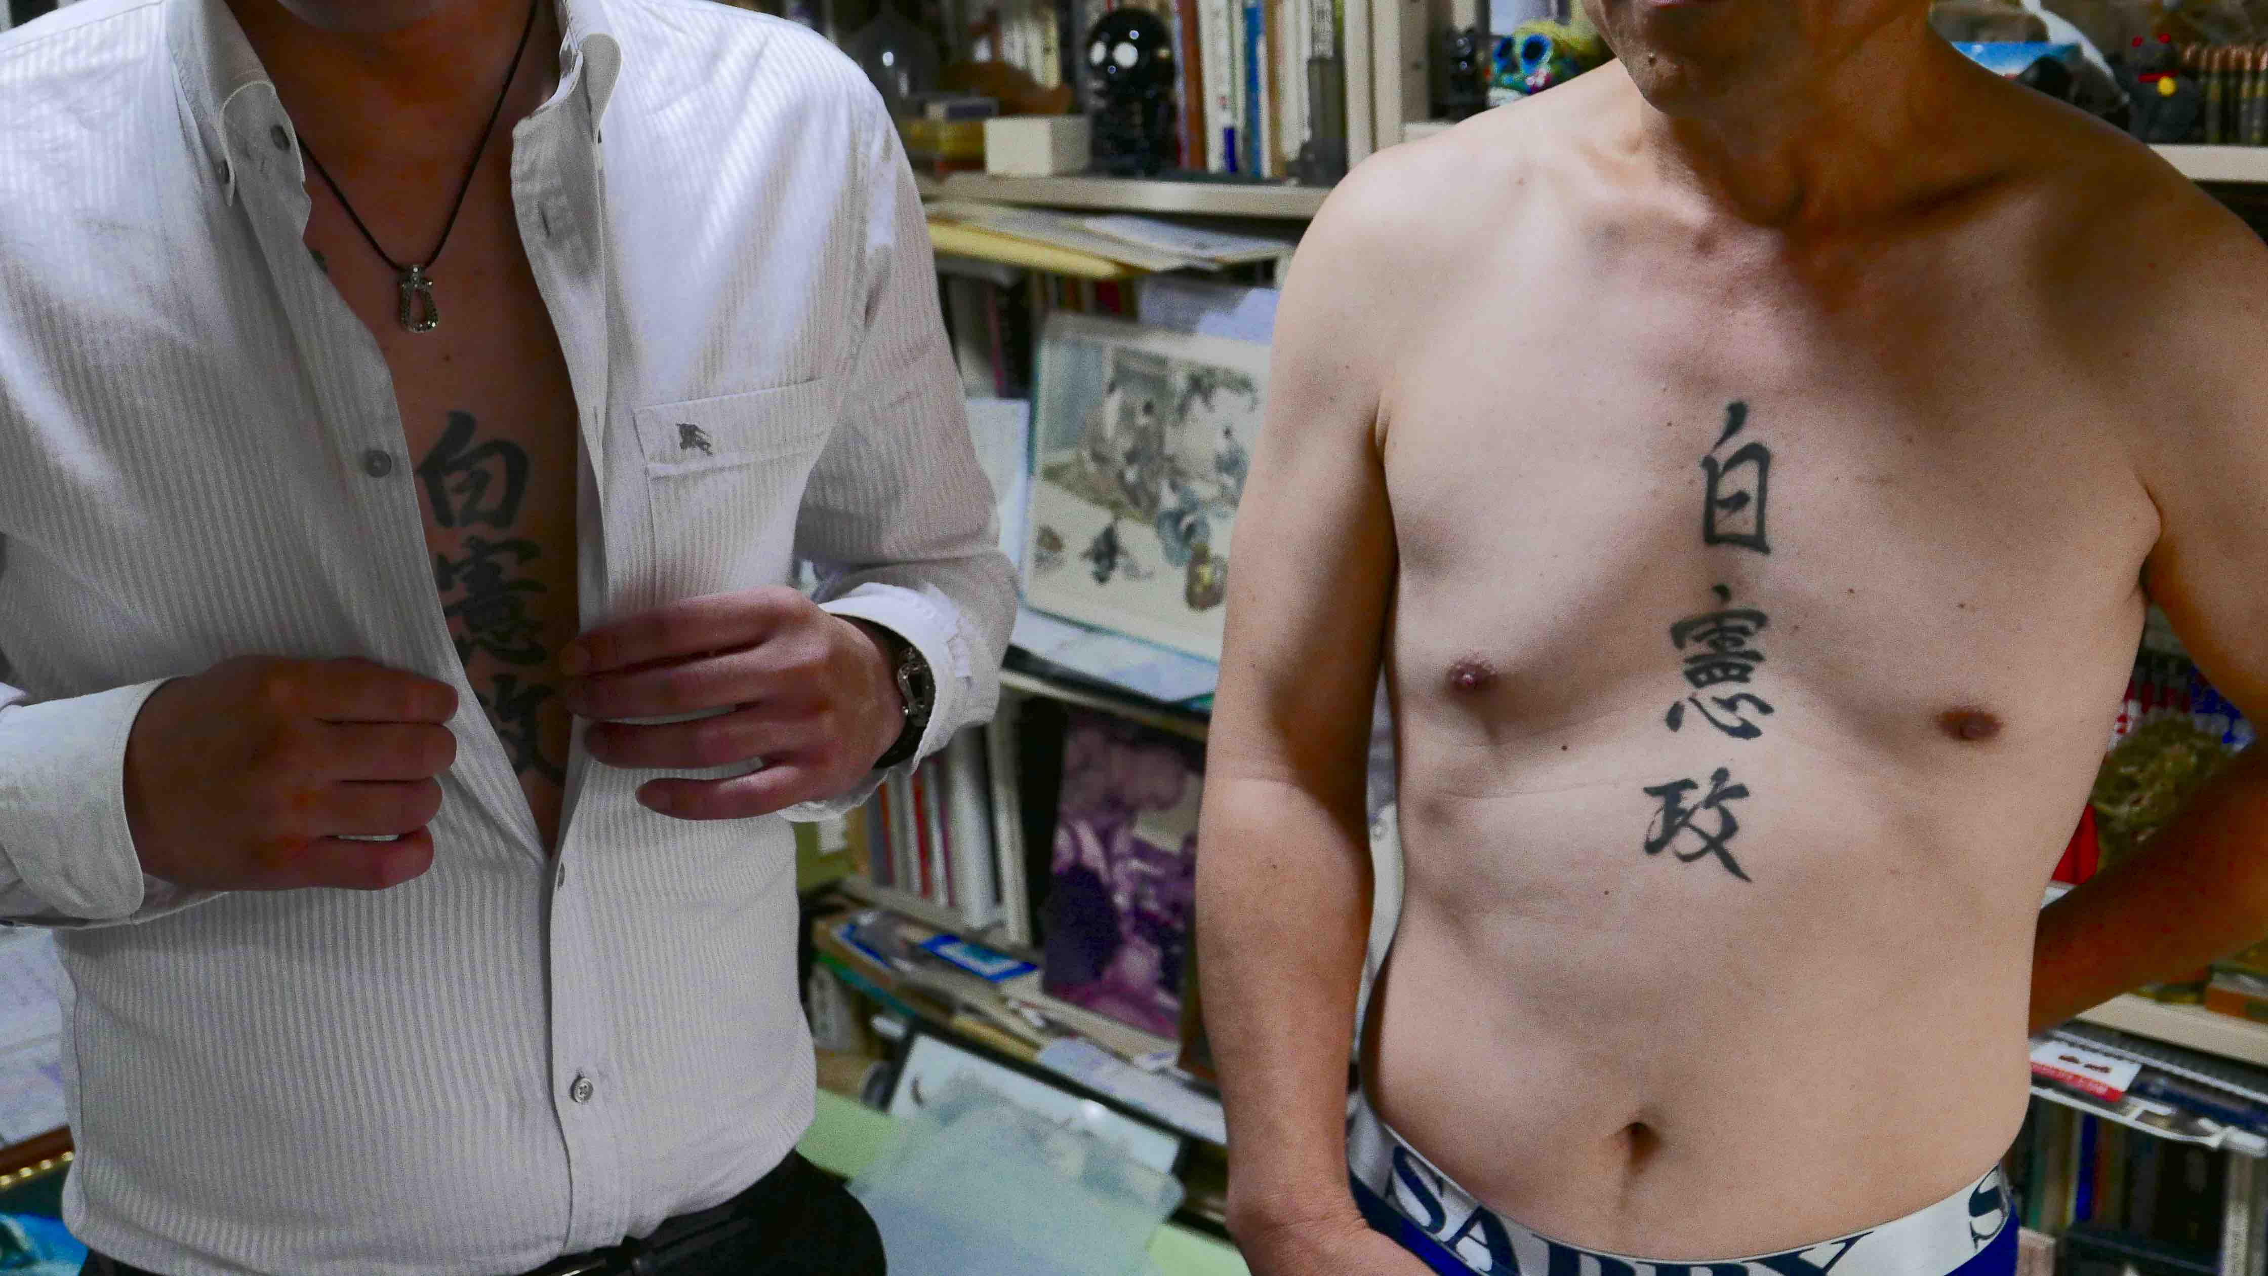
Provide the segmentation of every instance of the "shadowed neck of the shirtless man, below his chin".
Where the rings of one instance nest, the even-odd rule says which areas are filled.
[[[1644,148],[1730,216],[1783,229],[1864,218],[1941,184],[1957,163],[1946,123],[1973,79],[1921,11],[1808,43],[1778,82],[1708,109],[1642,104]]]

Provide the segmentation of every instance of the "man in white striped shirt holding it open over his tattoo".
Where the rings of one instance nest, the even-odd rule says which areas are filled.
[[[1014,588],[871,86],[710,0],[86,0],[0,118],[91,1269],[880,1271],[785,820],[991,713]]]

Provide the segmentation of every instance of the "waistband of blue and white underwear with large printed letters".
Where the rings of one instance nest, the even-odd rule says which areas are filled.
[[[2016,1262],[2016,1212],[2000,1167],[1876,1228],[1712,1262],[1601,1253],[1499,1217],[1402,1142],[1363,1094],[1347,1115],[1347,1172],[1370,1226],[1442,1276],[1982,1276]]]

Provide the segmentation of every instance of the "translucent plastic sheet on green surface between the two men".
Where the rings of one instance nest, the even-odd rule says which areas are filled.
[[[957,1076],[850,1183],[891,1276],[1139,1276],[1182,1183]]]

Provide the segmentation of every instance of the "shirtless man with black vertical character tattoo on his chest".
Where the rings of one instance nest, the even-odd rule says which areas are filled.
[[[2028,1029],[2268,931],[2259,749],[2039,910],[2146,602],[2268,720],[2268,252],[1926,0],[1588,9],[1617,66],[1379,154],[1290,272],[1200,858],[1232,1226],[2007,1269]]]

